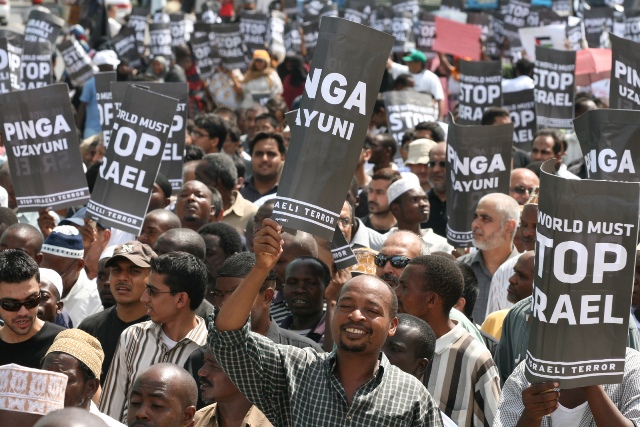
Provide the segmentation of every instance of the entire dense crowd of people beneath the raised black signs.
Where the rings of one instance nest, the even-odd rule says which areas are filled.
[[[113,7],[105,11],[117,33]],[[233,2],[219,11],[234,19]],[[525,377],[540,166],[554,159],[558,176],[586,178],[573,132],[542,129],[530,151],[514,148],[509,194],[469,206],[473,246],[454,248],[443,120],[449,111],[455,120],[455,94],[441,82],[455,80],[456,61],[393,55],[381,92],[428,93],[438,114],[396,141],[378,97],[338,219],[357,263],[338,269],[330,242],[270,219],[291,143],[284,115],[303,96],[308,58],[259,49],[244,73],[220,66],[203,80],[180,45],[136,70],[109,34],[87,37],[96,20],[81,15],[87,28],[66,37],[100,71],[188,83],[183,183],[173,192],[158,174],[136,236],[86,218],[83,206],[19,211],[2,164],[0,424],[640,424],[633,309],[621,384],[560,390]],[[505,91],[534,87],[530,61],[513,70]],[[91,189],[105,155],[95,81],[72,89]],[[575,116],[604,107],[578,94]],[[482,125],[510,120],[491,107]],[[633,286],[638,306],[640,266]]]

